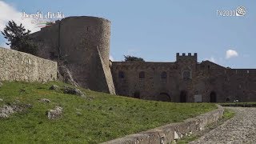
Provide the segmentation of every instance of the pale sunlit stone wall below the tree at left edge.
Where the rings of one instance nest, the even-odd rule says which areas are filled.
[[[57,79],[57,62],[0,48],[0,81],[49,82]]]

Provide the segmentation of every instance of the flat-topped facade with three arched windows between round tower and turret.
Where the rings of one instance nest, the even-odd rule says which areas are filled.
[[[116,92],[133,98],[168,101],[176,92],[175,67],[172,62],[112,62]],[[120,72],[124,78],[120,78]],[[139,78],[140,72],[144,72],[145,78]],[[161,77],[163,72],[166,78]]]

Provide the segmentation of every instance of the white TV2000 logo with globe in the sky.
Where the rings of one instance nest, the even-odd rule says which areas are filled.
[[[244,16],[246,14],[245,6],[238,6],[236,10],[216,10],[217,16],[229,17],[229,16]]]

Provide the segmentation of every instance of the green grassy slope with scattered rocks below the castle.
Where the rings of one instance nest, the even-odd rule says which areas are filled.
[[[0,107],[11,103],[30,108],[0,118],[1,143],[98,143],[162,126],[214,110],[214,104],[154,102],[103,94],[79,88],[86,98],[49,90],[61,82],[4,82]],[[66,85],[67,86],[67,85]],[[48,98],[50,102],[41,102]],[[50,120],[46,110],[63,108],[61,118]]]

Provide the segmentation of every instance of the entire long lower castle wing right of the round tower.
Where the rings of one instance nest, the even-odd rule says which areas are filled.
[[[176,62],[112,62],[111,70],[117,94],[129,97],[167,102],[256,101],[255,69],[198,63],[197,54],[177,54]],[[141,71],[145,78],[139,78]],[[161,78],[163,71],[166,78]],[[184,78],[185,71],[189,71],[190,78]]]

